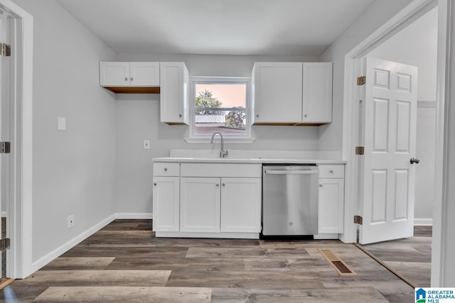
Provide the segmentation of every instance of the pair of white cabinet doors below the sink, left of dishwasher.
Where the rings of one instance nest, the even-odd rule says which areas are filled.
[[[180,231],[259,233],[259,178],[181,178]]]

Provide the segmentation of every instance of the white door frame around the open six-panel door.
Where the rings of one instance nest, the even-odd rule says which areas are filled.
[[[360,76],[360,59],[395,33],[401,31],[434,6],[438,9],[438,50],[437,50],[437,133],[436,133],[436,166],[435,166],[435,205],[433,214],[433,245],[432,245],[432,286],[442,284],[444,268],[441,267],[441,231],[442,209],[446,201],[442,199],[444,184],[443,159],[446,155],[444,150],[444,107],[446,106],[444,92],[446,83],[446,62],[449,60],[447,52],[447,34],[449,28],[449,2],[451,0],[414,0],[405,9],[392,17],[373,34],[345,55],[344,62],[344,90],[343,90],[343,147],[342,159],[346,160],[345,172],[345,220],[344,231],[340,239],[347,243],[353,243],[357,239],[357,225],[353,223],[353,216],[358,209],[360,192],[358,189],[358,171],[360,169],[358,155],[355,155],[355,146],[359,138],[359,106],[360,90],[356,85],[356,78]]]

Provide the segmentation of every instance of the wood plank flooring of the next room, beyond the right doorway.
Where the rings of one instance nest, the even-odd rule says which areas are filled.
[[[432,226],[414,226],[414,236],[362,246],[415,287],[429,287]]]

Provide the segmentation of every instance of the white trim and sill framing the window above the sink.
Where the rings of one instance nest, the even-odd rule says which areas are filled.
[[[247,117],[246,131],[247,136],[223,136],[225,142],[229,143],[252,143],[256,140],[251,136],[251,79],[250,77],[191,77],[190,78],[190,87],[189,94],[190,98],[188,100],[188,110],[189,114],[189,136],[185,138],[185,141],[188,143],[210,143],[210,136],[193,136],[194,133],[194,87],[197,82],[220,82],[220,83],[239,83],[247,82],[247,96],[245,104],[245,116]]]

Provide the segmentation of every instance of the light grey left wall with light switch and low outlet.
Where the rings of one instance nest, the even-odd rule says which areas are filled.
[[[33,262],[114,211],[115,113],[98,62],[115,54],[53,0],[14,0],[33,37]],[[57,117],[67,131],[57,131]],[[67,216],[75,227],[67,228]]]

